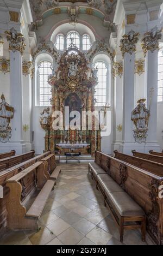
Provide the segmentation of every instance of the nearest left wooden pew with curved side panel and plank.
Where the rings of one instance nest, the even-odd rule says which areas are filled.
[[[7,228],[11,230],[38,229],[39,220],[54,181],[45,175],[45,164],[36,162],[19,174],[7,180],[10,189],[7,199]],[[27,209],[28,199],[38,192],[32,205]]]

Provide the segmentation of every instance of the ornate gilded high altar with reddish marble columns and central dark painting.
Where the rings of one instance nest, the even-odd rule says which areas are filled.
[[[101,131],[95,130],[95,117],[92,118],[92,129],[88,128],[88,120],[85,118],[86,129],[82,127],[83,111],[95,111],[95,86],[97,85],[97,69],[91,69],[85,54],[78,50],[73,43],[59,59],[58,67],[49,76],[49,85],[52,86],[52,110],[44,110],[41,126],[46,130],[45,150],[57,150],[61,153],[71,151],[89,153],[92,156],[95,150],[101,150]],[[66,110],[68,109],[68,113]],[[61,111],[63,115],[63,129],[54,130],[53,113]],[[78,111],[79,117],[75,112]],[[68,114],[71,115],[68,123],[65,123]],[[47,116],[48,114],[48,116]],[[76,128],[71,129],[70,123],[77,118]],[[80,120],[79,120],[80,119]],[[80,121],[80,126],[77,126]]]

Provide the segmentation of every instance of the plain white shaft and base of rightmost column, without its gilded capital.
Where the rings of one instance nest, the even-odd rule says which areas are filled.
[[[150,109],[146,152],[160,151],[156,139],[157,103],[158,103],[158,50],[147,51],[145,59],[145,84],[147,90],[147,108]]]

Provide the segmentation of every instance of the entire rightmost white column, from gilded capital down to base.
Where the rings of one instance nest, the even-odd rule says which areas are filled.
[[[155,27],[147,32],[143,38],[143,51],[145,53],[145,86],[147,94],[147,108],[150,110],[148,122],[148,136],[145,152],[149,150],[160,151],[157,141],[157,105],[158,105],[158,51],[161,30]],[[155,45],[155,48],[153,48]]]

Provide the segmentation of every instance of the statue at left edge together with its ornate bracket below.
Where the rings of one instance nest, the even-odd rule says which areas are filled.
[[[10,120],[14,117],[14,108],[9,106],[2,94],[0,103],[0,141],[6,143],[11,138]]]

